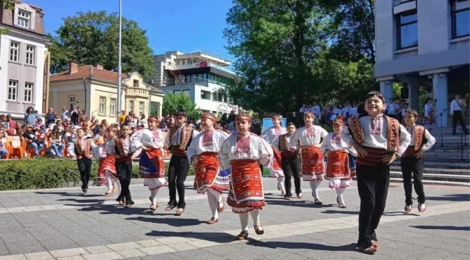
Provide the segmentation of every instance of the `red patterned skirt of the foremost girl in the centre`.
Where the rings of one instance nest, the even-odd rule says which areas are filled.
[[[231,189],[227,204],[235,213],[245,213],[262,209],[265,204],[263,180],[257,160],[233,160],[230,162]]]

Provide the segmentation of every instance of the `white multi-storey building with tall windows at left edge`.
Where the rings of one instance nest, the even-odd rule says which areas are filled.
[[[0,113],[22,122],[28,107],[47,112],[50,57],[43,10],[20,1],[0,6]]]

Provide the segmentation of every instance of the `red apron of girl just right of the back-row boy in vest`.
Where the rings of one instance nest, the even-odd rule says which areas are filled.
[[[320,148],[309,146],[302,149],[302,178],[305,181],[323,180],[325,166]]]

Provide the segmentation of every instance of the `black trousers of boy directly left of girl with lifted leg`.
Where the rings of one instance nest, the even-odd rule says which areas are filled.
[[[186,156],[173,155],[168,166],[168,189],[170,189],[170,204],[177,205],[178,208],[186,207],[184,201],[184,181],[188,177],[189,161]],[[178,190],[178,201],[176,201],[176,191]]]

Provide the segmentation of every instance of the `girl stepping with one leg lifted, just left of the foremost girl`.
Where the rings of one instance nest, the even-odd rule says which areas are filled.
[[[205,194],[212,211],[212,218],[207,224],[219,222],[219,213],[223,211],[222,191],[230,188],[228,178],[225,180],[218,178],[219,151],[223,141],[228,138],[228,134],[214,129],[216,117],[210,113],[204,113],[201,118],[203,132],[199,133],[188,147],[188,160],[194,167],[196,173],[196,185],[198,192]]]

